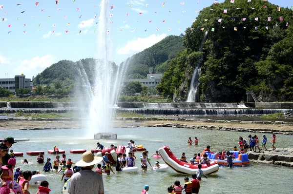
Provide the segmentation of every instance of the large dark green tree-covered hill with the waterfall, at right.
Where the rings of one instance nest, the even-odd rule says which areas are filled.
[[[200,46],[202,44],[202,51]],[[253,90],[262,101],[293,100],[293,10],[264,0],[225,0],[204,8],[184,36],[157,86],[186,100],[194,68],[201,66],[198,101],[232,102]]]

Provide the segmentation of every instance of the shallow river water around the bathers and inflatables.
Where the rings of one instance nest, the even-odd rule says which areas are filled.
[[[225,151],[231,150],[237,145],[238,136],[246,138],[249,134],[244,132],[227,132],[202,129],[180,129],[180,128],[115,128],[111,132],[116,133],[118,139],[100,140],[105,146],[110,144],[126,145],[132,139],[135,143],[142,144],[149,151],[149,154],[155,153],[162,146],[169,146],[171,151],[178,157],[182,152],[186,152],[187,158],[191,158],[194,153],[201,153],[207,146],[211,146],[211,150]],[[26,151],[44,151],[44,157],[50,157],[51,162],[55,158],[54,155],[47,153],[47,150],[53,149],[56,145],[60,149],[65,150],[67,159],[71,158],[73,162],[81,159],[81,154],[71,154],[70,149],[94,149],[97,140],[82,137],[84,134],[81,129],[60,129],[60,130],[2,130],[0,137],[14,136],[15,138],[28,138],[29,141],[17,142],[12,149],[15,152],[23,152],[23,157],[17,157],[16,167],[21,170],[40,170],[43,165],[37,164],[37,156],[26,155]],[[254,135],[254,134],[251,134]],[[262,141],[262,134],[256,134]],[[199,139],[198,146],[188,146],[188,137],[197,136]],[[268,148],[271,147],[271,135],[267,134]],[[277,135],[276,147],[293,147],[292,136]],[[136,156],[141,152],[136,152]],[[27,159],[28,164],[22,164],[22,160]],[[151,159],[153,165],[157,159]],[[159,159],[160,163],[164,163]],[[139,171],[136,173],[115,173],[111,175],[103,175],[105,194],[116,193],[133,193],[139,194],[143,190],[145,184],[149,185],[149,194],[167,194],[167,187],[179,180],[184,184],[186,175],[178,174],[171,168],[166,172],[142,171],[140,168],[140,160],[136,159],[136,166]],[[148,167],[149,168],[149,167]],[[115,170],[114,170],[115,172]],[[63,181],[62,174],[43,173],[49,182],[50,194],[60,194]],[[189,178],[190,175],[188,175]],[[220,167],[216,174],[208,175],[208,179],[203,178],[200,182],[200,193],[281,193],[289,194],[293,191],[293,169],[287,167],[279,167],[269,164],[254,163],[247,167]],[[31,186],[32,194],[37,192],[36,186]]]

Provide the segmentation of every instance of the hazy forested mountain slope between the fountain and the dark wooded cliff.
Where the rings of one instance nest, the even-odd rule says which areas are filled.
[[[129,64],[126,78],[146,78],[149,68],[153,68],[155,73],[164,73],[167,71],[170,60],[183,49],[183,35],[166,37],[127,59]]]

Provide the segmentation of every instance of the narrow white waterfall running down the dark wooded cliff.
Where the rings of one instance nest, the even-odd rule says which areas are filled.
[[[202,39],[202,42],[199,46],[199,51],[203,51],[203,44],[207,38],[207,35],[208,35],[208,31],[205,32],[204,34],[204,37]],[[193,75],[192,75],[192,78],[191,78],[191,83],[190,83],[190,89],[189,89],[189,92],[188,92],[188,97],[187,97],[187,100],[186,102],[196,102],[196,96],[197,96],[197,88],[198,88],[198,85],[199,85],[199,81],[198,79],[200,78],[200,74],[201,74],[201,65],[202,65],[202,61],[203,58],[200,59],[200,61],[198,62],[196,68],[194,69],[193,71]]]

